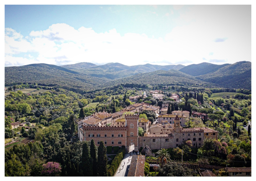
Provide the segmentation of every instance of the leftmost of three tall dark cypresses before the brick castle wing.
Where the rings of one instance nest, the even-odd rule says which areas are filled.
[[[107,149],[107,148],[106,148]],[[92,158],[88,142],[85,141],[82,150],[82,171],[85,177],[92,176]]]

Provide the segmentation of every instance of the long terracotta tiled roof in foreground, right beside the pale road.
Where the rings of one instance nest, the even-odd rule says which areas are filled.
[[[127,177],[143,177],[144,164],[145,164],[144,155],[133,155]]]

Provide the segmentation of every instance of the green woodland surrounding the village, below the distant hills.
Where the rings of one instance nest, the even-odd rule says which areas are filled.
[[[47,91],[25,94],[22,92],[24,88],[44,88]],[[149,91],[154,88],[162,90],[161,93],[165,95],[163,101],[150,96]],[[15,91],[12,92],[14,89]],[[19,89],[20,91],[17,91]],[[229,167],[251,166],[250,128],[247,131],[243,127],[251,121],[251,91],[249,90],[210,89],[194,84],[155,85],[154,87],[154,84],[134,83],[87,91],[84,94],[37,84],[10,86],[9,90],[12,91],[5,96],[5,138],[10,140],[13,137],[15,140],[30,138],[34,142],[13,144],[5,149],[5,176],[92,176],[85,174],[88,173],[86,169],[90,170],[92,167],[94,168],[92,170],[96,170],[92,172],[93,176],[103,176],[100,173],[104,173],[104,176],[112,176],[113,169],[107,170],[111,163],[106,162],[106,148],[103,142],[102,147],[97,148],[92,142],[71,143],[71,139],[76,140],[76,122],[79,119],[98,111],[112,113],[120,111],[125,106],[133,104],[129,96],[135,95],[141,96],[138,102],[158,106],[169,104],[171,111],[188,110],[191,114],[205,113],[206,116],[202,119],[190,119],[187,127],[210,127],[219,132],[218,141],[205,139],[204,146],[201,148],[191,148],[192,145],[189,142],[178,148],[169,148],[170,159],[180,160],[182,149],[185,161],[220,166],[228,164]],[[148,96],[145,99],[142,97],[144,91]],[[223,92],[227,95],[211,98]],[[175,102],[170,99],[172,93],[177,93],[182,101]],[[229,93],[233,95],[230,96]],[[153,122],[156,114],[145,111],[140,117]],[[28,128],[28,131],[24,127],[11,129],[10,123],[14,121],[25,122],[25,126],[31,126],[31,128]],[[90,147],[94,149],[91,153]],[[99,156],[104,158],[96,159]],[[105,167],[99,165],[105,165]],[[172,169],[172,166],[166,166],[166,169]],[[159,173],[161,173],[160,170]],[[193,175],[190,172],[187,174]]]

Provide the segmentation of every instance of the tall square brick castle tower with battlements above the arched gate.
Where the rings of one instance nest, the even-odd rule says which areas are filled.
[[[127,152],[139,150],[139,114],[125,114],[125,126],[127,126]]]

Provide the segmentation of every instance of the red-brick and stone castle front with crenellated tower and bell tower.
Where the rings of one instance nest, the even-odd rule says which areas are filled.
[[[102,140],[105,146],[122,146],[130,152],[131,148],[139,150],[140,147],[148,145],[151,149],[176,148],[191,140],[193,147],[201,147],[205,137],[218,139],[218,132],[210,128],[183,128],[180,126],[180,119],[176,115],[174,124],[169,124],[167,134],[147,134],[139,136],[139,114],[125,114],[125,125],[120,126],[88,126],[82,125],[79,128],[80,141],[95,141],[99,146]],[[163,125],[162,125],[163,126]],[[205,133],[207,132],[207,133]],[[206,135],[207,134],[207,135]],[[210,135],[209,135],[210,134]],[[213,135],[213,136],[212,136]],[[133,148],[134,146],[134,148]]]

